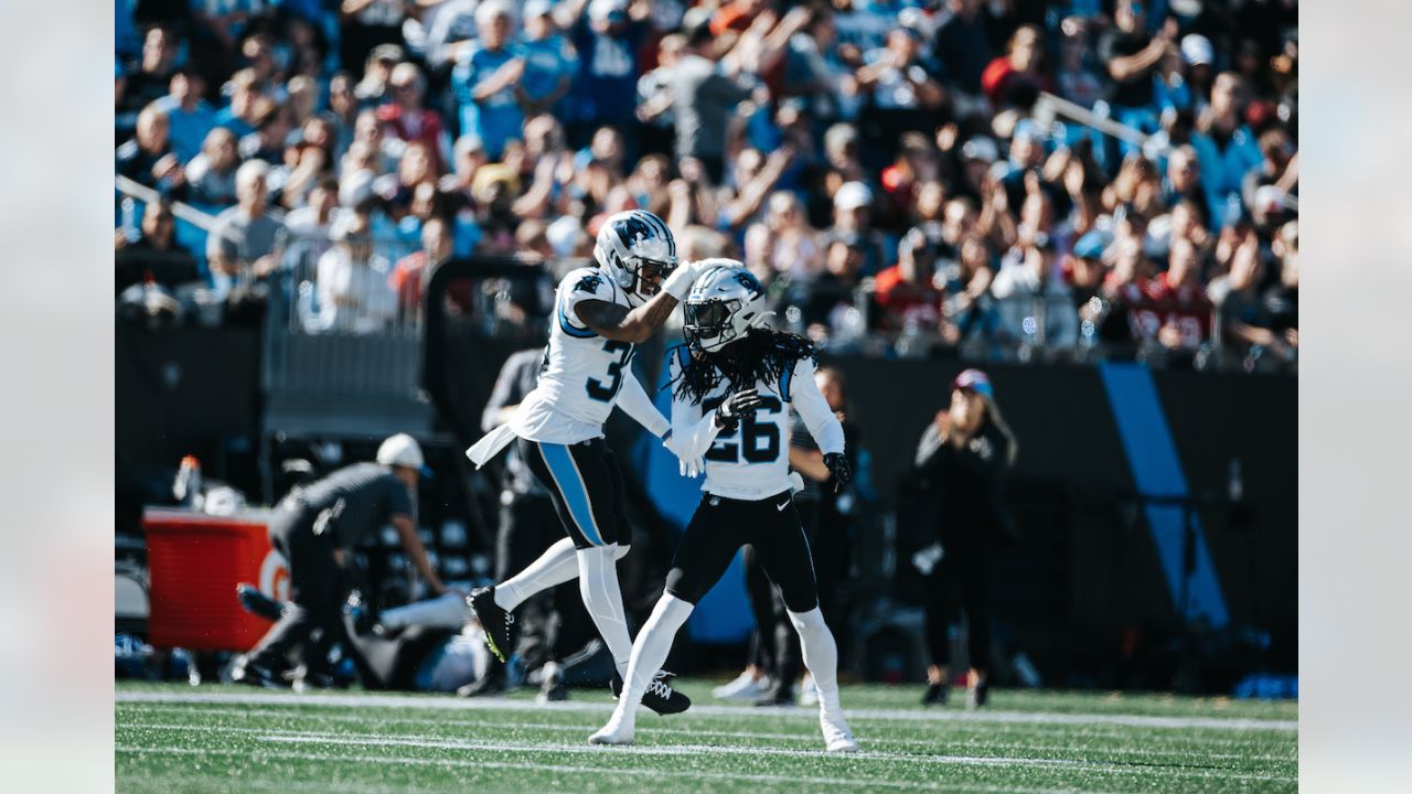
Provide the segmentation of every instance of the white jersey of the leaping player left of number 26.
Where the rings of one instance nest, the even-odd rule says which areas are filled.
[[[521,438],[578,444],[603,437],[603,422],[633,372],[633,345],[604,339],[580,322],[573,308],[586,300],[628,305],[623,290],[596,267],[580,267],[559,281],[545,369],[510,421]]]

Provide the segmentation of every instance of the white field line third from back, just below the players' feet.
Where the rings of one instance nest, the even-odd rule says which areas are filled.
[[[719,746],[719,745],[664,745],[664,746],[628,746],[628,747],[596,747],[583,743],[561,742],[504,742],[504,740],[476,740],[476,739],[415,739],[370,733],[323,733],[316,730],[275,730],[261,728],[226,728],[205,725],[179,725],[138,722],[124,728],[158,729],[179,732],[216,732],[216,733],[244,733],[254,735],[258,742],[288,743],[288,745],[321,745],[321,746],[352,746],[352,747],[417,747],[424,750],[491,750],[500,753],[569,753],[569,754],[630,754],[630,756],[778,756],[778,757],[806,757],[815,760],[856,762],[887,762],[890,764],[916,766],[984,766],[984,767],[1063,767],[1099,774],[1138,774],[1151,776],[1161,773],[1175,777],[1199,777],[1217,780],[1243,781],[1284,781],[1293,783],[1292,777],[1269,774],[1245,774],[1223,770],[1190,769],[1180,766],[1130,764],[1124,762],[1086,762],[1076,759],[1007,759],[995,756],[957,756],[957,754],[915,754],[890,752],[861,752],[849,756],[830,756],[823,750],[801,750],[788,747],[758,747],[758,746]]]

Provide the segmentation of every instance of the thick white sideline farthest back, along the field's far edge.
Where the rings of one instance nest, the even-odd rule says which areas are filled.
[[[528,712],[594,712],[607,713],[611,705],[589,702],[537,704],[501,698],[436,698],[414,695],[297,695],[294,692],[116,692],[120,704],[234,704],[234,705],[299,705],[342,708],[419,708],[442,711],[528,711]],[[693,705],[692,713],[707,716],[744,716],[751,719],[788,716],[818,719],[812,708],[750,709],[719,705]],[[1244,719],[1207,716],[1137,716],[1115,713],[1038,713],[1014,711],[938,712],[907,709],[846,709],[849,719],[878,719],[894,722],[983,722],[1024,725],[1121,725],[1125,728],[1172,728],[1213,730],[1299,730],[1292,719]]]

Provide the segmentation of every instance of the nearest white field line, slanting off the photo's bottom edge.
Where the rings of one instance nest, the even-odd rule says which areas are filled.
[[[237,750],[199,750],[192,747],[136,747],[136,746],[117,746],[117,753],[131,753],[131,754],[181,754],[181,756],[239,756],[249,759],[249,752]],[[602,750],[607,752],[607,750]],[[714,773],[714,771],[669,771],[658,769],[609,769],[609,767],[593,767],[593,766],[569,766],[569,764],[539,764],[527,762],[489,762],[489,760],[463,760],[463,759],[425,759],[425,757],[404,757],[404,756],[346,756],[346,754],[323,754],[323,753],[278,753],[277,759],[291,759],[291,760],[309,760],[309,762],[332,762],[337,764],[345,764],[347,762],[367,763],[367,764],[385,764],[385,766],[433,766],[433,767],[452,767],[452,769],[510,769],[510,770],[537,770],[537,771],[559,771],[570,774],[602,774],[610,777],[652,777],[652,778],[688,778],[688,780],[722,780],[722,781],[750,781],[750,783],[771,783],[777,786],[791,784],[791,786],[819,786],[830,788],[863,788],[863,790],[877,790],[877,788],[907,788],[918,791],[976,791],[979,794],[1056,794],[1059,791],[1067,794],[1083,794],[1073,788],[1014,788],[1008,786],[967,786],[947,783],[942,784],[928,784],[928,783],[899,783],[892,780],[878,780],[870,777],[798,777],[786,774],[736,774],[736,773]]]

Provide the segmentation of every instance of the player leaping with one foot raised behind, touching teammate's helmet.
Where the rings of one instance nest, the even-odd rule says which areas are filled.
[[[635,343],[645,342],[686,295],[699,263],[676,264],[671,229],[651,212],[627,211],[603,222],[593,250],[597,267],[570,271],[559,283],[545,369],[508,422],[467,451],[477,466],[511,441],[520,459],[549,490],[569,537],[510,579],[470,595],[486,643],[501,661],[514,648],[514,609],[545,588],[578,576],[583,605],[627,674],[628,636],[618,558],[627,554],[623,473],[603,441],[603,422],[623,408],[657,437],[669,432],[633,376]],[[658,672],[644,704],[659,713],[685,711],[690,701]],[[614,691],[618,688],[614,681]]]

